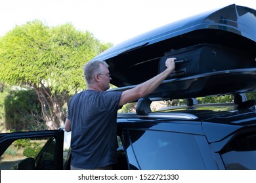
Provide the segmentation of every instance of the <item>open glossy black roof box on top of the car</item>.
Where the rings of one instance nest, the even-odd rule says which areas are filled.
[[[149,97],[181,99],[255,90],[256,10],[249,7],[229,5],[164,25],[121,42],[94,59],[104,60],[110,65],[111,83],[119,87],[114,90],[122,91],[157,75],[160,59],[165,53],[198,44],[239,50],[249,56],[242,60],[245,63],[242,65],[246,66],[233,67],[229,61],[230,67],[226,69],[168,78]],[[244,58],[244,55],[240,57]]]

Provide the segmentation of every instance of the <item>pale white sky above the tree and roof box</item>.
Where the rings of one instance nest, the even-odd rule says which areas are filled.
[[[118,44],[207,10],[231,4],[256,9],[256,0],[0,0],[0,36],[33,20],[70,23],[102,42]]]

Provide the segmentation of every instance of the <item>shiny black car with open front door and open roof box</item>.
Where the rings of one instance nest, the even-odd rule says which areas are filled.
[[[111,83],[117,86],[110,91],[125,91],[157,75],[161,59],[173,50],[211,45],[213,57],[221,55],[220,45],[235,50],[232,59],[224,59],[229,61],[225,67],[216,63],[192,75],[187,69],[194,67],[175,69],[157,90],[135,101],[135,112],[118,113],[114,169],[256,169],[256,105],[246,96],[256,89],[255,15],[249,7],[229,5],[149,31],[94,58],[110,65]],[[236,65],[236,58],[244,60]],[[213,95],[230,95],[232,101],[198,102]],[[186,104],[152,110],[153,102],[175,99]],[[70,169],[70,137],[64,127],[1,133],[0,169]]]

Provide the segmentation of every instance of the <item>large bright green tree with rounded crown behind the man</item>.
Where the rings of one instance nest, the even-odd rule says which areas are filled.
[[[72,24],[17,25],[0,39],[0,81],[33,88],[45,122],[56,129],[64,124],[70,95],[85,88],[83,65],[110,46]]]

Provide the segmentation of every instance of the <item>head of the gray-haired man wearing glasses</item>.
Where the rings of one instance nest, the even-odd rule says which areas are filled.
[[[104,61],[89,61],[83,66],[83,75],[88,87],[96,84],[103,91],[110,88],[110,71],[108,70],[108,64]]]

